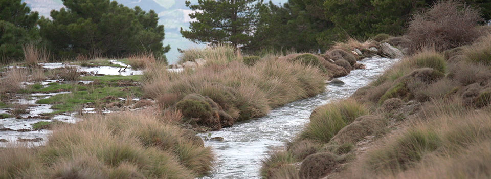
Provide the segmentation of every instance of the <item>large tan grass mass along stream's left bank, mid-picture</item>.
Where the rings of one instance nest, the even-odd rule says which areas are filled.
[[[206,115],[200,117],[207,119],[195,122],[218,125],[218,128],[233,121],[264,116],[273,107],[319,94],[325,86],[325,75],[317,68],[276,58],[261,60],[254,66],[229,62],[181,73],[162,68],[155,66],[145,72],[146,94],[154,99],[172,96],[169,102],[159,102],[165,106],[203,109],[201,114]],[[186,102],[179,106],[173,104],[185,97]],[[185,118],[196,116],[185,115]]]

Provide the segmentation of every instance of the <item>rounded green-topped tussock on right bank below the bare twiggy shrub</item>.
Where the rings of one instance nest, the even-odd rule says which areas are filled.
[[[437,52],[423,51],[412,58],[414,58],[416,65],[419,68],[428,67],[441,73],[447,72],[447,62],[445,61],[445,57]]]

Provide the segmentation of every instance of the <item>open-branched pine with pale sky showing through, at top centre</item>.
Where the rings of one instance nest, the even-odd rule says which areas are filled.
[[[196,19],[191,22],[188,30],[181,28],[183,37],[199,43],[212,44],[232,43],[233,47],[239,44],[247,45],[254,31],[254,21],[257,13],[256,0],[236,1],[198,1],[186,6],[194,12],[189,17]]]

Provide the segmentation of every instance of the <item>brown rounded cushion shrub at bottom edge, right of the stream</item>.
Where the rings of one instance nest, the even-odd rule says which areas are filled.
[[[338,164],[338,157],[332,153],[311,154],[303,160],[298,175],[304,179],[318,179],[330,173]]]

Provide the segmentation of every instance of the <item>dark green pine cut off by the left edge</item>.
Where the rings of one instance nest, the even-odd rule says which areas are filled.
[[[22,45],[39,37],[36,26],[39,14],[21,2],[0,1],[0,63],[22,58]]]

